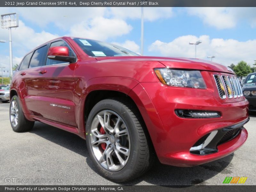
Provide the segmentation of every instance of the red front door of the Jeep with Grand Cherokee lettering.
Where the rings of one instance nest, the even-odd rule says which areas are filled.
[[[66,46],[69,56],[75,56],[75,52],[64,40],[57,40],[49,44],[49,47]],[[48,52],[48,51],[47,51]],[[45,54],[45,62],[40,67],[39,78],[36,81],[37,88],[30,91],[30,109],[36,111],[37,116],[71,126],[76,126],[74,114],[74,89],[76,81],[74,70],[76,63],[51,60]],[[33,109],[32,109],[33,107]]]

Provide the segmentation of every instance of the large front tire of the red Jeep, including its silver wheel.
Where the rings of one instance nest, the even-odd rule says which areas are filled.
[[[104,124],[104,117],[109,123]],[[111,130],[111,126],[117,128]],[[121,98],[101,100],[92,108],[86,123],[86,145],[100,174],[116,182],[139,177],[148,171],[155,157],[139,110]]]

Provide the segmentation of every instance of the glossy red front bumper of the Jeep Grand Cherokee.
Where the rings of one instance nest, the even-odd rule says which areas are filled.
[[[196,155],[190,148],[204,135],[246,121],[248,101],[223,103],[213,96],[213,89],[169,87],[162,83],[141,83],[131,92],[137,94],[136,102],[153,142],[158,159],[163,164],[192,166],[204,164],[227,156],[247,139],[243,128],[232,140],[217,146],[210,155]],[[143,111],[143,108],[146,111]],[[219,118],[189,119],[175,114],[175,109],[209,110],[221,113]]]

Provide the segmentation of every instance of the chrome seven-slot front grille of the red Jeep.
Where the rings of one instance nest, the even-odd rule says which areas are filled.
[[[221,99],[239,98],[243,96],[242,87],[234,76],[213,75]]]

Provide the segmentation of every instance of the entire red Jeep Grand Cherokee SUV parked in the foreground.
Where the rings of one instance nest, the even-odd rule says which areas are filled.
[[[114,181],[163,164],[192,166],[247,139],[248,101],[233,71],[186,58],[143,57],[117,45],[62,37],[29,52],[12,78],[15,132],[40,121],[86,139]]]

